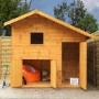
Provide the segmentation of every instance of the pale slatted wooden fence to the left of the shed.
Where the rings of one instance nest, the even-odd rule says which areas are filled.
[[[7,67],[3,64],[11,64],[11,36],[0,37],[0,79],[3,78]],[[10,73],[8,72],[8,77]]]

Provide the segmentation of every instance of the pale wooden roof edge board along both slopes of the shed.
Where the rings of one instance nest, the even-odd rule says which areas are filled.
[[[33,15],[33,14],[38,14],[38,15],[41,15],[41,16],[43,16],[43,18],[46,18],[46,19],[48,19],[48,20],[51,20],[51,21],[53,21],[53,22],[55,22],[55,23],[57,23],[57,24],[61,24],[61,25],[63,25],[63,26],[65,26],[65,28],[68,28],[68,29],[70,29],[70,30],[79,33],[79,34],[82,34],[82,35],[86,36],[87,38],[96,38],[95,35],[89,34],[89,33],[87,33],[87,32],[85,32],[85,31],[81,31],[80,29],[77,29],[77,28],[75,28],[75,26],[73,26],[73,25],[70,25],[70,24],[67,24],[67,23],[65,23],[65,22],[63,22],[63,21],[61,21],[61,20],[58,20],[58,19],[55,19],[55,18],[53,18],[53,16],[51,16],[51,15],[48,15],[48,14],[45,14],[45,13],[38,11],[38,10],[31,11],[31,12],[29,12],[29,13],[26,13],[26,14],[23,14],[23,15],[21,15],[21,16],[18,16],[18,18],[15,18],[15,19],[12,19],[12,20],[10,20],[10,21],[8,21],[8,22],[4,22],[4,26],[6,26],[6,25],[11,25],[11,24],[13,24],[13,23],[15,23],[15,22],[18,22],[18,21],[21,21],[21,20],[23,20],[23,19],[25,19],[25,18],[28,18],[28,16],[31,16],[31,15]]]

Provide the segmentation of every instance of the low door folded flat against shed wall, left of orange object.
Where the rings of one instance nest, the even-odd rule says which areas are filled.
[[[10,86],[22,87],[22,61],[12,59],[10,72],[11,72]]]

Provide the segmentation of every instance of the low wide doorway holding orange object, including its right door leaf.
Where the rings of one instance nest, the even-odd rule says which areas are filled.
[[[56,64],[51,59],[23,59],[23,87],[56,87]]]

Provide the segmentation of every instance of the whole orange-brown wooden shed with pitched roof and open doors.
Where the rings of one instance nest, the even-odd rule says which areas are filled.
[[[34,10],[4,23],[12,28],[11,87],[87,89],[87,38],[77,28]],[[23,64],[47,69],[48,81],[22,84]]]

